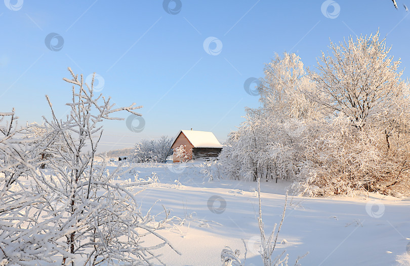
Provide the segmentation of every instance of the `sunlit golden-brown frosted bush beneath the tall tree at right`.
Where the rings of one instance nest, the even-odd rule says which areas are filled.
[[[306,137],[304,143],[306,160],[294,184],[302,194],[394,194],[393,188],[408,193],[408,147],[399,150],[400,145],[391,141],[387,151],[384,132],[367,126],[353,127],[350,119],[341,114],[315,138]]]

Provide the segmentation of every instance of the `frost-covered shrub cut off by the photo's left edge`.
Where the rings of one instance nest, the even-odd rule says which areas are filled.
[[[7,121],[7,119],[10,121]],[[58,216],[43,218],[46,194],[30,182],[38,155],[46,148],[41,139],[28,140],[32,125],[19,128],[14,109],[0,113],[0,264],[52,263],[64,253],[55,244],[64,234],[53,229]]]

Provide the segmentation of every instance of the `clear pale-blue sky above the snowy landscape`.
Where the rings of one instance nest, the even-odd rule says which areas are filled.
[[[398,10],[391,0],[168,1],[170,13],[181,7],[177,14],[167,13],[162,0],[4,2],[0,111],[15,107],[20,123],[41,122],[43,115],[50,118],[48,94],[64,116],[71,93],[62,80],[69,77],[67,66],[85,77],[96,72],[101,93],[118,106],[143,105],[145,121],[140,132],[125,121],[105,122],[100,150],[190,128],[224,140],[243,121],[245,106],[259,106],[258,97],[245,92],[245,80],[262,77],[274,53],[294,52],[313,66],[329,39],[380,28],[391,55],[407,67],[403,77],[410,73],[404,0],[397,0]],[[46,45],[53,32],[60,43],[54,37]],[[217,40],[207,53],[208,37]]]

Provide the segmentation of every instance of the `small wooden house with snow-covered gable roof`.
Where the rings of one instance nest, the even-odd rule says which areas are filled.
[[[222,150],[222,145],[215,137],[214,133],[197,130],[181,130],[171,148],[175,149],[185,145],[187,151],[192,151],[193,159],[210,159],[218,157]],[[180,162],[180,158],[173,154],[173,162]]]

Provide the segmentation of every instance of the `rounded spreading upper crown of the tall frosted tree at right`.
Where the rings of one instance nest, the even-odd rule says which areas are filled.
[[[386,40],[377,31],[370,36],[352,36],[339,44],[331,42],[332,54],[322,52],[317,72],[310,76],[317,84],[315,95],[320,104],[335,112],[343,112],[357,128],[375,123],[404,96],[405,82],[400,78],[400,59],[389,56]],[[385,113],[384,113],[385,112]]]

